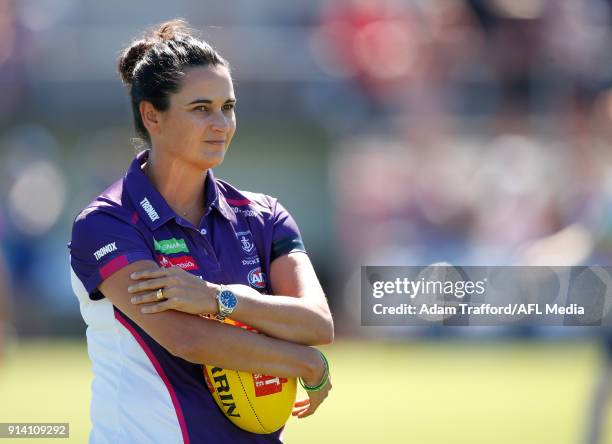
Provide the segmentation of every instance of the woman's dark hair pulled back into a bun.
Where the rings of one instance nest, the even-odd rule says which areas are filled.
[[[136,132],[148,144],[149,133],[142,123],[140,102],[151,102],[159,111],[170,106],[170,94],[176,93],[185,70],[195,66],[229,64],[212,46],[195,37],[182,19],[153,28],[142,39],[123,50],[118,61],[121,80],[129,87]]]

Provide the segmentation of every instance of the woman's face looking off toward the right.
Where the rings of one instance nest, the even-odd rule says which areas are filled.
[[[196,168],[223,162],[236,130],[234,86],[223,66],[196,67],[185,72],[170,107],[158,115],[152,142]]]

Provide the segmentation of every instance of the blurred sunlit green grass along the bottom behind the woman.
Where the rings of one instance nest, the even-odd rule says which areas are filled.
[[[574,444],[598,364],[586,343],[338,342],[326,353],[332,393],[290,419],[287,443]],[[0,365],[0,422],[69,422],[70,440],[53,442],[87,442],[89,372],[82,342],[19,344]]]

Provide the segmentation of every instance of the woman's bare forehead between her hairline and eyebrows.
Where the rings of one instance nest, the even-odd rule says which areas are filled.
[[[181,102],[197,98],[225,101],[234,98],[234,85],[226,67],[198,66],[185,71],[185,77],[175,96]]]

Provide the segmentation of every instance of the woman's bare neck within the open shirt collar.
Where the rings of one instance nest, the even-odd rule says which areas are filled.
[[[143,167],[145,174],[176,214],[197,225],[204,212],[208,170],[197,169],[182,159],[164,156],[159,151],[151,150],[149,153]]]

